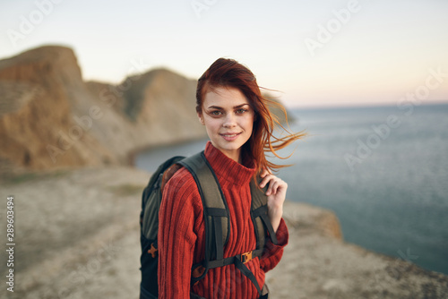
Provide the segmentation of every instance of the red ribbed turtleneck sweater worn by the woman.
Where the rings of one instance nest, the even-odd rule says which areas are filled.
[[[254,225],[250,217],[249,182],[254,163],[238,164],[209,141],[205,157],[220,182],[230,213],[230,232],[224,258],[255,249]],[[193,176],[185,168],[177,171],[163,190],[159,210],[159,298],[190,298],[192,265],[204,259],[205,226],[202,201]],[[288,243],[288,228],[283,219],[277,230],[278,245],[269,241],[261,259],[246,263],[260,286],[264,273],[280,261]],[[235,265],[210,269],[193,286],[193,293],[205,298],[258,298],[254,284]]]

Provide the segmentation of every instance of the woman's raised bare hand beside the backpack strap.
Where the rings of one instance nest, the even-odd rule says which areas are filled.
[[[274,232],[277,232],[283,216],[283,202],[285,202],[288,184],[266,170],[263,171],[261,176],[263,180],[260,183],[260,187],[264,188],[266,184],[269,184],[266,191],[266,195],[268,195],[268,216]]]

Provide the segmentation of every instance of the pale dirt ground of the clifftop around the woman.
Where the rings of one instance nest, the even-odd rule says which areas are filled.
[[[2,227],[9,195],[15,216],[14,292],[3,282],[0,297],[138,298],[138,215],[149,176],[82,168],[0,183]],[[331,212],[292,202],[285,210],[290,239],[267,276],[271,298],[448,298],[448,277],[344,243]]]

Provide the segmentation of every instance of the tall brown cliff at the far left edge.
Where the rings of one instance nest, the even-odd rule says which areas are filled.
[[[73,51],[41,47],[0,61],[0,156],[19,167],[98,165],[113,160],[76,130],[70,94],[82,88]]]

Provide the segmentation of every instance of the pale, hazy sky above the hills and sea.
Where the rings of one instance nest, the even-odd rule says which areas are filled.
[[[72,47],[85,81],[118,83],[228,57],[288,107],[438,103],[447,15],[446,0],[0,0],[0,59]]]

